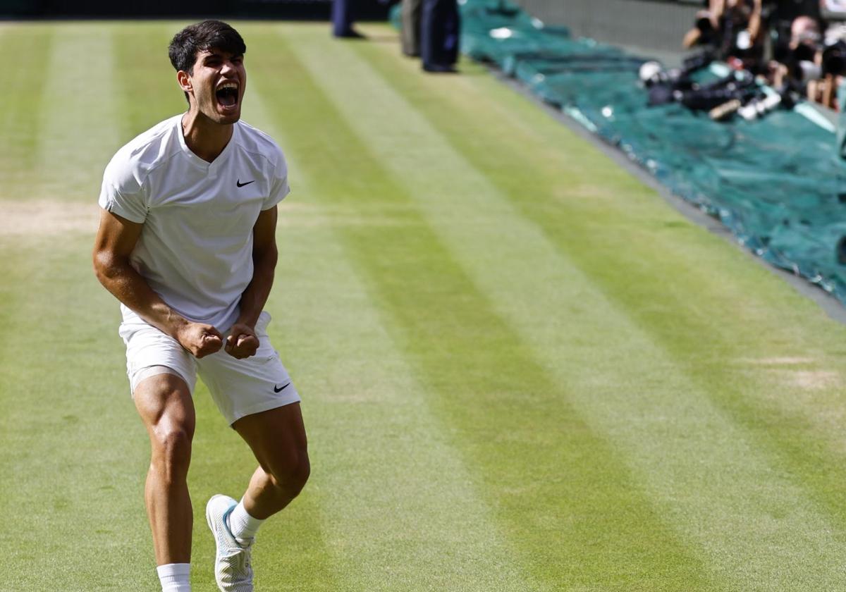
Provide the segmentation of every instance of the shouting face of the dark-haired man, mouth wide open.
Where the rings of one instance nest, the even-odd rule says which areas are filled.
[[[185,73],[196,108],[215,123],[235,123],[241,117],[241,102],[247,84],[244,56],[217,48],[197,53],[193,74]],[[188,89],[186,89],[188,90]]]

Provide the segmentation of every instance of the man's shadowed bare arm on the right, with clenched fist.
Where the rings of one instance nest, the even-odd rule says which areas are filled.
[[[278,252],[276,248],[277,208],[262,211],[253,227],[253,279],[241,294],[238,320],[232,326],[226,340],[226,352],[233,358],[249,358],[259,348],[255,335],[255,323],[270,295],[273,286],[273,272],[276,269]]]

